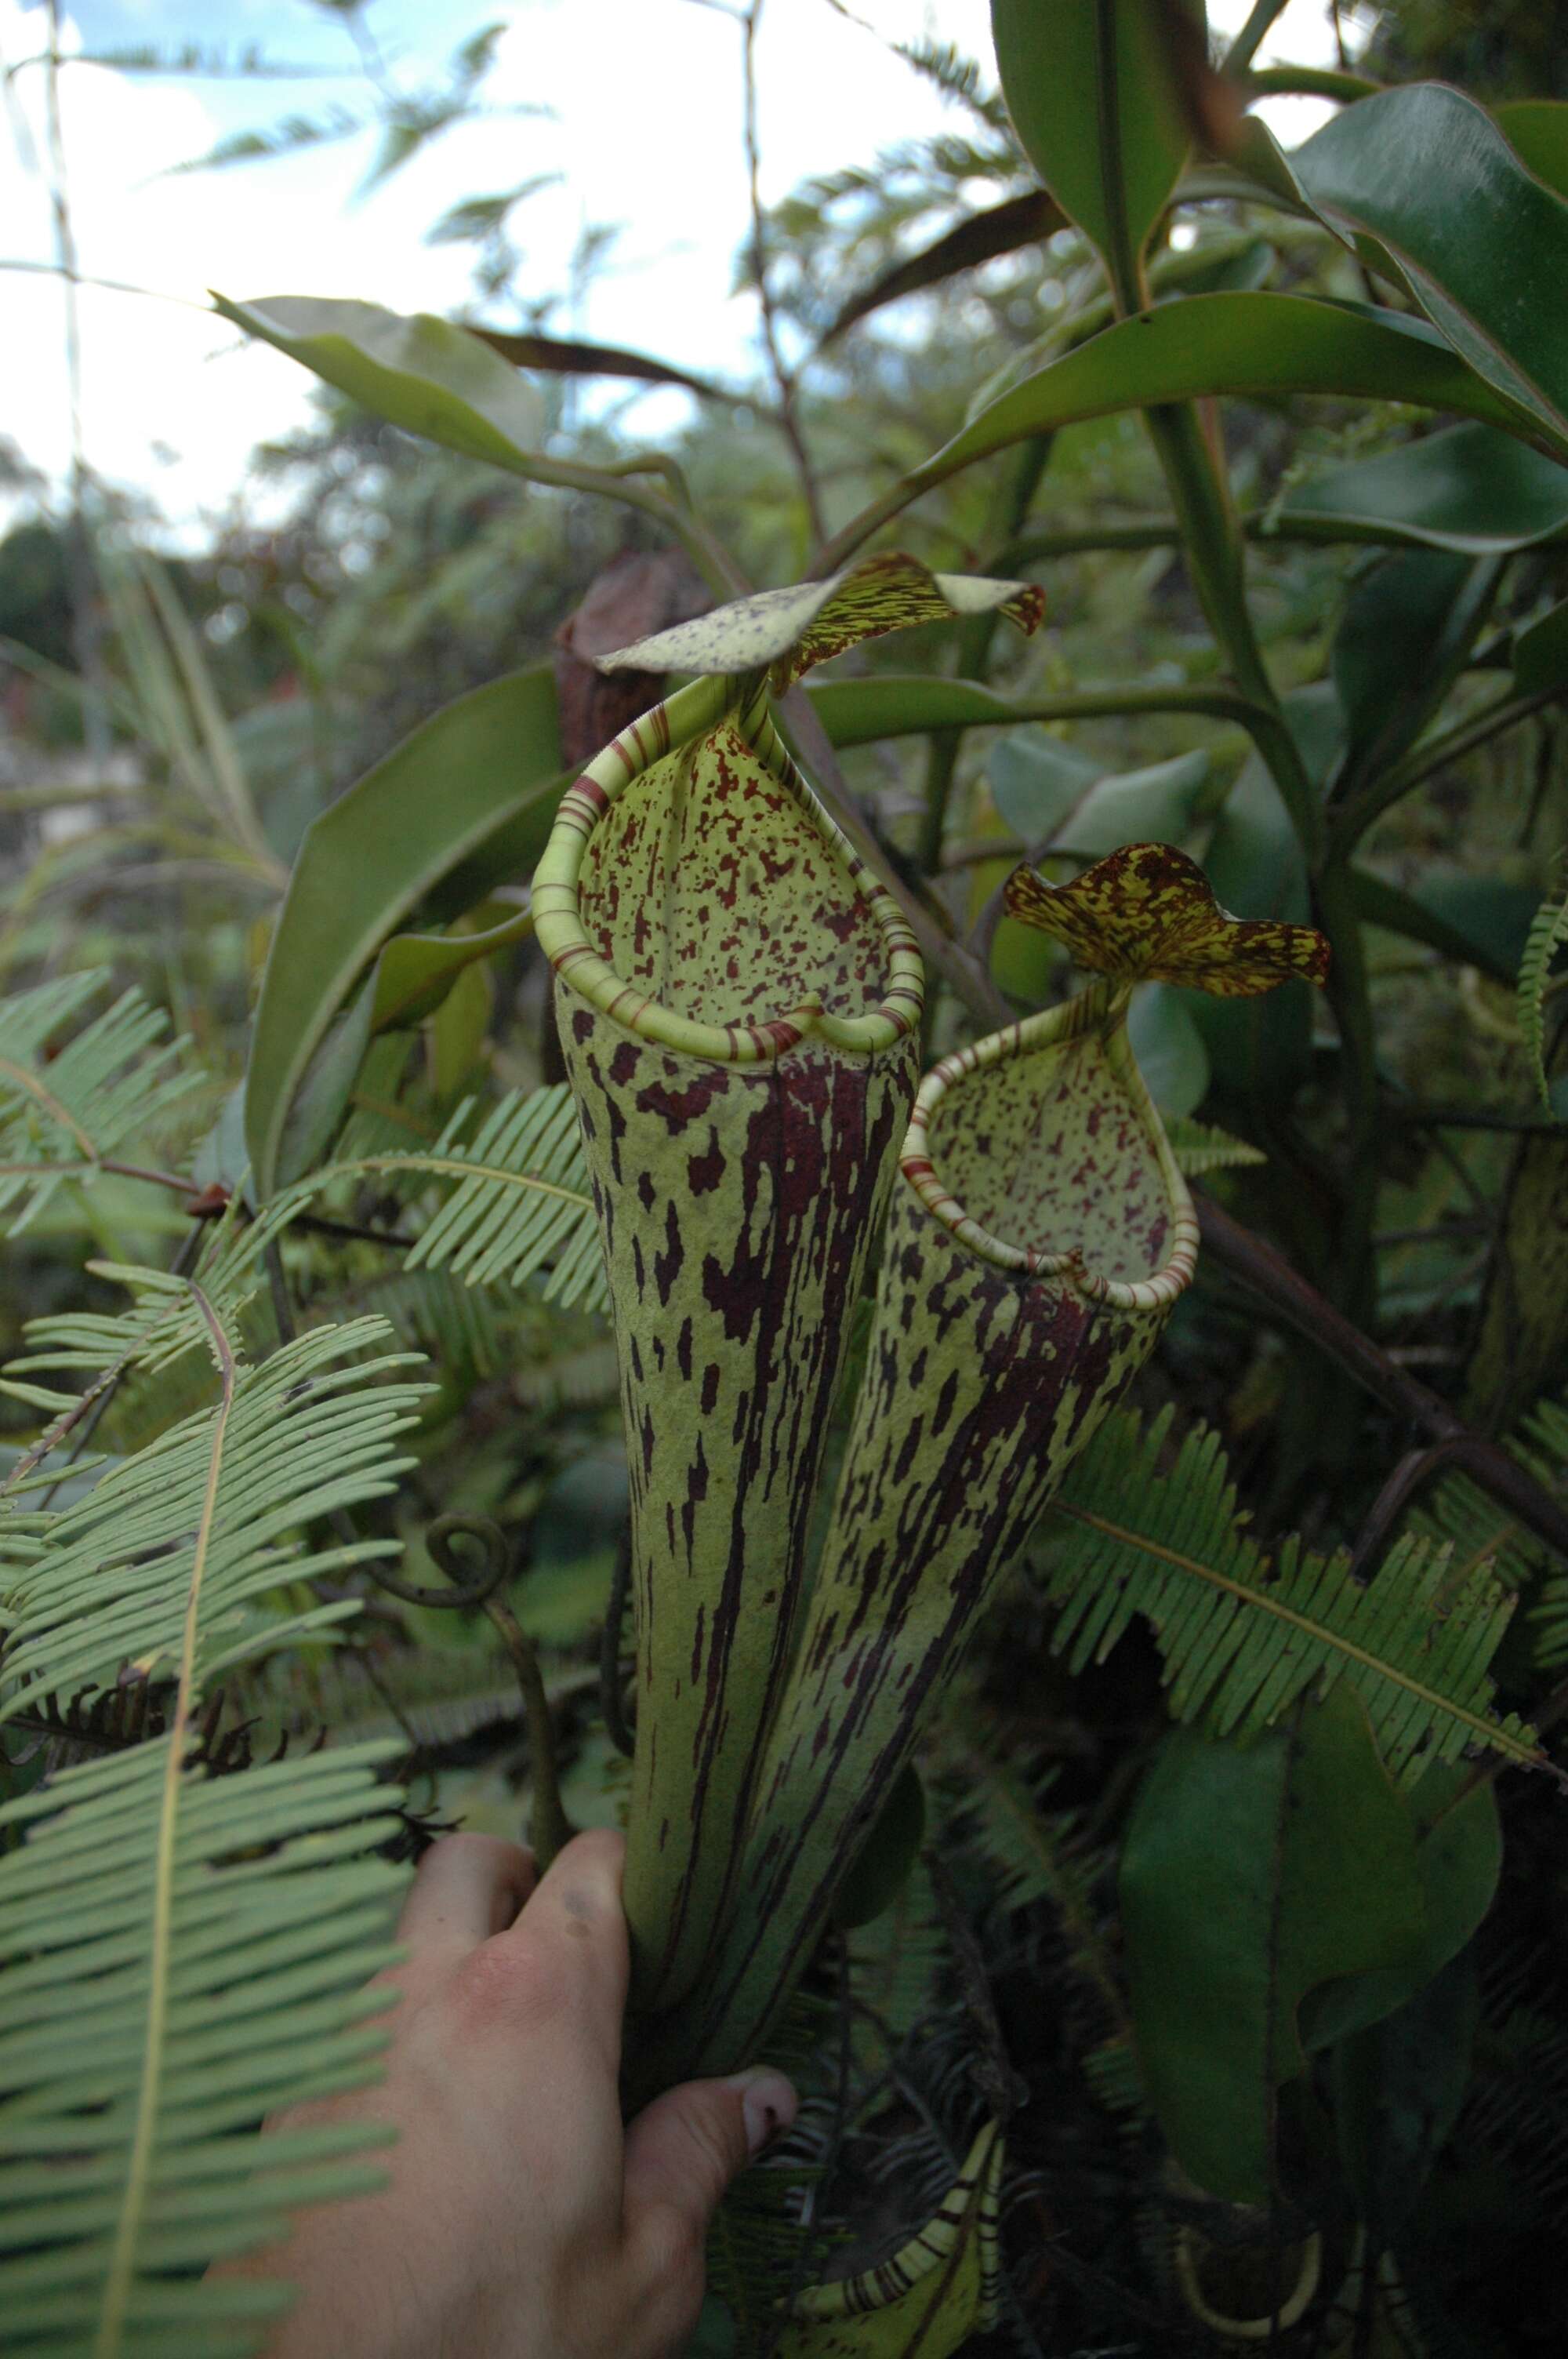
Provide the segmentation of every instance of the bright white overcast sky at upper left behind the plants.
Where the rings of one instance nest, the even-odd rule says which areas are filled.
[[[990,66],[988,0],[856,0],[856,14],[889,38],[957,40]],[[1245,0],[1210,0],[1221,28],[1243,14]],[[465,196],[561,172],[514,219],[526,283],[561,290],[580,231],[620,224],[613,269],[571,326],[693,368],[745,370],[757,321],[755,304],[731,295],[747,222],[736,26],[693,0],[380,0],[370,12],[406,85],[498,19],[507,33],[486,94],[547,104],[556,120],[465,125],[368,198],[356,186],[375,151],[370,132],[276,163],[167,175],[233,130],[363,106],[356,80],[160,80],[68,66],[61,109],[80,269],[196,302],[212,285],[450,311],[469,295],[469,257],[424,245],[429,224]],[[40,5],[0,0],[2,68],[45,38]],[[356,64],[342,26],[309,0],[73,0],[66,12],[75,50],[184,40]],[[1290,0],[1264,57],[1330,54],[1323,0]],[[42,71],[24,68],[0,118],[0,262],[52,259],[42,94]],[[1271,120],[1294,142],[1320,113],[1285,101]],[[894,139],[962,127],[962,116],[830,0],[771,0],[759,123],[764,196],[776,201],[813,172],[870,163]],[[241,347],[210,314],[94,288],[80,304],[87,460],[151,491],[184,531],[229,507],[257,441],[309,415],[311,380],[276,351]],[[57,281],[0,269],[0,434],[59,486],[71,432]],[[681,399],[651,396],[639,429],[658,429],[653,403]],[[0,495],[0,524],[5,512]]]

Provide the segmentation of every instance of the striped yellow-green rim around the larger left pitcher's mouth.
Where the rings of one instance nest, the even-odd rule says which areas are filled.
[[[797,845],[830,870],[835,892],[842,889],[839,918],[844,927],[858,925],[875,939],[877,974],[868,984],[868,993],[879,988],[882,998],[863,1014],[835,1012],[828,1005],[830,988],[797,981],[778,1014],[712,1021],[670,1005],[660,988],[646,979],[618,972],[618,965],[589,937],[585,870],[599,828],[622,795],[658,762],[681,748],[698,748],[726,722],[766,774],[769,795],[783,802],[790,826],[797,830]],[[618,892],[618,885],[611,889]],[[714,899],[724,901],[724,894],[717,892]],[[698,679],[667,703],[653,705],[622,729],[566,790],[533,878],[533,913],[549,965],[589,1007],[611,1017],[634,1038],[712,1064],[771,1064],[802,1040],[823,1040],[837,1050],[875,1054],[908,1038],[920,1024],[924,967],[898,903],[877,885],[823,811],[773,729],[766,696],[759,694],[740,715],[733,710],[733,686],[722,677]],[[696,920],[703,918],[707,911],[696,913]],[[667,908],[663,922],[667,922]],[[686,913],[686,922],[693,925],[689,955],[696,962],[703,958],[705,932],[700,922],[693,922],[693,913]],[[722,986],[710,984],[705,995],[722,998]]]

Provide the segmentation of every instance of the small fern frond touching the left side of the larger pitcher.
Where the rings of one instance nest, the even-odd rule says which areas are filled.
[[[450,1269],[469,1286],[521,1286],[549,1267],[545,1300],[608,1312],[578,1111],[566,1083],[514,1092],[465,1139],[465,1102],[429,1149],[394,1149],[332,1163],[292,1189],[288,1203],[349,1172],[431,1172],[457,1180],[408,1255],[410,1269]]]

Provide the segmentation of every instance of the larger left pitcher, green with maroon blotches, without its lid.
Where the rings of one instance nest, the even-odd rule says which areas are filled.
[[[922,967],[762,701],[698,682],[566,793],[533,880],[632,1479],[637,1998],[700,1974],[780,1691]]]

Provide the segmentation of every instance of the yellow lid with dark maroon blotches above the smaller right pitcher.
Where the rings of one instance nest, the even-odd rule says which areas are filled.
[[[1174,845],[1122,845],[1070,885],[1033,868],[1007,880],[1007,915],[1063,941],[1080,967],[1254,998],[1302,974],[1320,984],[1327,941],[1311,925],[1231,918],[1198,861]]]

